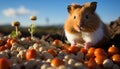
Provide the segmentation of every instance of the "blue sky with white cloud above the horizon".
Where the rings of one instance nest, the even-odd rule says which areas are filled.
[[[64,24],[68,5],[93,1],[103,22],[110,23],[120,16],[120,0],[0,0],[0,25],[19,21],[21,26],[29,26],[32,15],[37,16],[35,24],[39,26]]]

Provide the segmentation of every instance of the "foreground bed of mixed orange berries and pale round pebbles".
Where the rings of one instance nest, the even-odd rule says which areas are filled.
[[[120,69],[120,50],[112,45],[84,49],[60,40],[0,39],[0,69]]]

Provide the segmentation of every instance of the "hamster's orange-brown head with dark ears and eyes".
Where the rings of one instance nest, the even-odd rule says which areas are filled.
[[[85,3],[84,5],[71,4],[68,6],[69,19],[72,21],[74,30],[80,32],[94,32],[100,24],[100,19],[95,13],[97,2]]]

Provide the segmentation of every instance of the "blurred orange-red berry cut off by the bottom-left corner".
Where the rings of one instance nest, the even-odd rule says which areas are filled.
[[[0,69],[10,69],[10,62],[6,58],[0,58]]]

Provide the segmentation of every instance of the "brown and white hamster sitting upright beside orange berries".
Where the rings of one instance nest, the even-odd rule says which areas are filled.
[[[96,14],[96,7],[97,2],[68,5],[64,31],[71,46],[82,44],[88,49],[91,46],[100,47],[109,41],[109,31]]]

